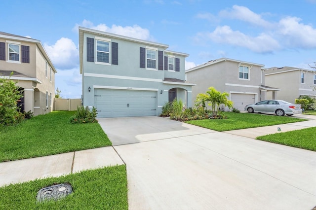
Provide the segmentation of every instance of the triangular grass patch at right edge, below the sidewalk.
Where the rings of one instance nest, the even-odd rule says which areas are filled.
[[[316,151],[316,127],[270,134],[256,139]]]

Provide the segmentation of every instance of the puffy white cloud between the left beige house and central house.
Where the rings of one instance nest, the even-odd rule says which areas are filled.
[[[56,69],[71,69],[79,65],[79,51],[69,38],[62,37],[54,45],[44,43],[44,48]]]

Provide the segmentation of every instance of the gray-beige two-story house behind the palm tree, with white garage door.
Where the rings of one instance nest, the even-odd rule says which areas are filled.
[[[243,111],[245,105],[266,99],[267,92],[276,98],[278,89],[265,86],[264,65],[220,58],[186,71],[187,79],[197,86],[192,88],[192,103],[197,94],[206,93],[208,87],[229,93],[233,107]],[[222,107],[228,110],[227,107]]]

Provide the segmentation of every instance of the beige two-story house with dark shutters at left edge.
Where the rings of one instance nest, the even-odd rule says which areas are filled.
[[[10,79],[24,91],[18,103],[21,111],[52,111],[57,71],[40,40],[0,32],[0,76],[9,78],[12,71]]]

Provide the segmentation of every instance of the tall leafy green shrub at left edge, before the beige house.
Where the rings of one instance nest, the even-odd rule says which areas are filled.
[[[11,73],[10,77],[13,75]],[[9,78],[0,76],[0,124],[11,125],[20,120],[17,101],[23,96],[19,87]]]

